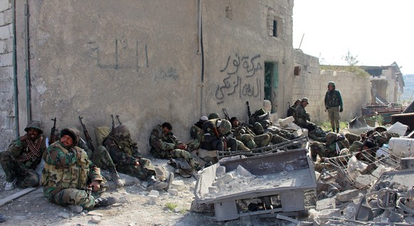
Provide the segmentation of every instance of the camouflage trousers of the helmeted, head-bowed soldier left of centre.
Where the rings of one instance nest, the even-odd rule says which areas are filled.
[[[117,171],[134,176],[142,181],[147,181],[147,178],[156,175],[154,165],[148,158],[139,158],[139,166],[118,164]]]

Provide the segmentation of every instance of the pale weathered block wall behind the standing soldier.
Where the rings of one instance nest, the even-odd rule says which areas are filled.
[[[322,70],[319,72],[319,59],[294,51],[294,63],[300,65],[302,72],[294,80],[293,98],[309,98],[307,111],[314,122],[329,122],[327,112],[324,112],[324,98],[328,82],[334,81],[336,90],[341,91],[344,102],[344,112],[340,113],[341,121],[349,121],[361,115],[363,104],[371,102],[371,82],[368,76],[361,76],[351,72]]]

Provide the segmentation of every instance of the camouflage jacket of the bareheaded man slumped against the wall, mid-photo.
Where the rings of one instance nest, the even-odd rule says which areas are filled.
[[[149,136],[149,145],[151,146],[152,154],[165,151],[169,152],[176,149],[179,144],[183,144],[183,142],[179,141],[171,131],[168,134],[164,134],[159,124],[152,129],[151,136]]]

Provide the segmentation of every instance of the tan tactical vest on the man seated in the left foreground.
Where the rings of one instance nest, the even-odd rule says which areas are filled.
[[[53,146],[57,146],[64,154],[69,153],[68,149],[65,149],[58,143],[53,144]],[[86,188],[90,160],[83,149],[77,146],[74,146],[72,149],[75,149],[78,154],[80,153],[80,158],[78,156],[75,163],[65,168],[45,163],[41,185],[51,188]]]

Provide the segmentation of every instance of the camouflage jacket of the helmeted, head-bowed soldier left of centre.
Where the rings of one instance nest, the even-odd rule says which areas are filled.
[[[109,134],[102,142],[103,146],[109,152],[112,161],[120,165],[134,165],[135,161],[142,158],[137,143],[132,140],[120,140],[112,134]]]

